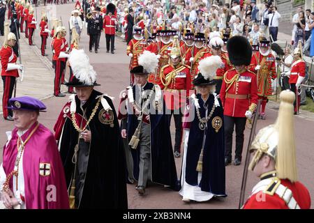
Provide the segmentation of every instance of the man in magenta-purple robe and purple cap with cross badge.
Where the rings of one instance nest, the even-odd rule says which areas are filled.
[[[0,166],[2,208],[69,208],[66,180],[57,143],[38,123],[45,105],[28,96],[11,98],[15,128],[7,132]],[[1,207],[0,207],[1,208]]]

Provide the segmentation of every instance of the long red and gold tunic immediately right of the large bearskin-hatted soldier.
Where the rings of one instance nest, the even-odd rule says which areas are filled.
[[[260,70],[255,70],[257,65],[260,66]],[[271,95],[271,79],[277,77],[274,55],[263,56],[260,52],[255,52],[249,67],[252,72],[257,73],[257,95],[262,97]]]

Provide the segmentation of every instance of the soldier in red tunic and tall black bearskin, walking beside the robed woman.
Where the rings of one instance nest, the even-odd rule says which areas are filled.
[[[234,69],[223,77],[220,99],[225,120],[225,165],[232,161],[232,134],[236,126],[234,165],[241,164],[246,118],[251,118],[257,107],[255,73],[246,68],[251,62],[252,48],[243,36],[234,36],[227,42],[227,51]]]

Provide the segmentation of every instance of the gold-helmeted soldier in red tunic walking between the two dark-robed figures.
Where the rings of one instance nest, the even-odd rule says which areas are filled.
[[[160,70],[160,81],[163,84],[161,89],[164,90],[169,125],[172,115],[174,116],[176,128],[174,156],[179,157],[182,141],[182,114],[186,98],[190,95],[191,80],[190,67],[184,65],[182,61],[178,36],[174,36],[169,64]]]

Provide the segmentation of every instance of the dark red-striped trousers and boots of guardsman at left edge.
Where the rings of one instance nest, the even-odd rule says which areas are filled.
[[[3,118],[13,116],[12,110],[7,109],[8,100],[12,98],[12,93],[15,84],[15,77],[11,76],[2,76],[3,81],[3,96],[2,96],[2,110],[3,110]]]

